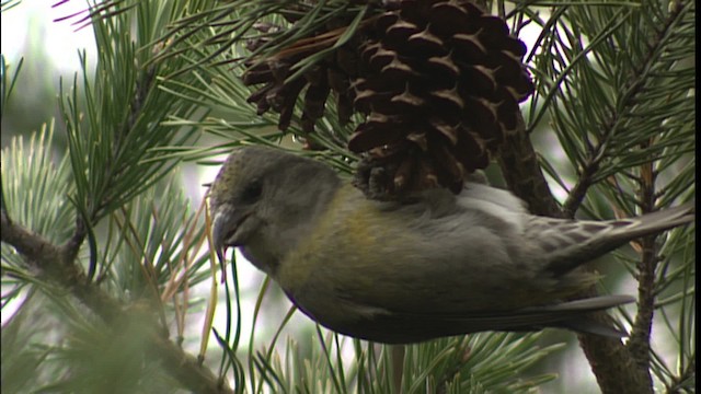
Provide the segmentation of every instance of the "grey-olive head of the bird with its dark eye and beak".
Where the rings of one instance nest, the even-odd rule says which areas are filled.
[[[310,159],[272,148],[237,149],[209,193],[219,259],[228,247],[241,247],[251,263],[272,274],[340,183],[333,170]]]

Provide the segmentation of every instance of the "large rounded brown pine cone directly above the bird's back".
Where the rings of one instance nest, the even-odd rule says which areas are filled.
[[[382,171],[356,181],[390,195],[436,185],[459,193],[516,128],[518,103],[533,91],[526,47],[467,0],[391,5],[359,47],[352,95],[367,119],[348,142],[365,166]],[[374,173],[381,177],[366,178]]]

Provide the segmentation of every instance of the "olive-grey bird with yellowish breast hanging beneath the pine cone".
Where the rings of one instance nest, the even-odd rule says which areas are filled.
[[[547,327],[624,336],[590,313],[635,299],[572,299],[598,280],[579,267],[696,213],[688,202],[610,221],[547,218],[475,182],[380,201],[319,161],[258,146],[229,155],[209,205],[222,264],[238,247],[313,321],[383,344]]]

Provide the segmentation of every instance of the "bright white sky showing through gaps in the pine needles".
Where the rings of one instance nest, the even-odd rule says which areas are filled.
[[[87,49],[89,56],[89,63],[94,65],[94,42],[92,36],[92,30],[90,26],[80,31],[76,31],[77,26],[71,25],[73,20],[64,22],[53,22],[55,19],[59,19],[83,9],[82,1],[68,1],[57,8],[51,8],[56,1],[22,1],[15,8],[2,12],[2,54],[11,63],[16,63],[20,56],[25,57],[25,65],[32,61],[32,48],[43,48],[51,60],[51,65],[44,66],[46,72],[59,73],[65,78],[71,78],[76,71],[79,70],[80,63],[78,60],[78,49]],[[77,20],[77,19],[76,19]],[[536,32],[535,32],[536,33]],[[535,37],[535,35],[533,35]],[[528,36],[525,37],[528,40]],[[527,43],[530,47],[530,43]],[[92,54],[92,55],[91,55]],[[14,94],[19,94],[15,91]],[[48,119],[47,119],[48,120]],[[59,131],[59,130],[57,130]],[[184,176],[197,177],[199,181],[196,185],[214,179],[218,169],[214,166],[200,166],[200,167],[186,167],[183,170]],[[188,182],[189,183],[189,182]],[[203,197],[205,189],[203,187],[188,188],[187,193],[193,198],[193,206],[197,207],[199,200]],[[263,275],[258,273],[252,265],[248,264],[243,258],[239,259],[239,278],[240,286],[243,294],[251,296],[246,299],[243,305],[243,340],[250,335],[251,329],[251,316],[253,313],[255,296],[257,289],[263,279]],[[631,286],[632,285],[632,286]],[[634,294],[634,281],[631,285],[627,285],[623,293]],[[209,282],[200,286],[198,293],[202,297],[208,297]],[[623,290],[623,289],[621,289]],[[220,297],[219,300],[223,298]],[[287,306],[279,309],[281,312],[279,315],[266,316],[265,318],[274,318],[269,323],[272,327],[276,327],[277,324],[284,317]],[[8,311],[3,311],[2,322],[9,317]],[[225,327],[225,312],[221,310],[217,313],[215,320],[215,327],[219,327],[221,331]],[[294,318],[290,325],[297,325],[302,322],[309,322],[300,313]],[[303,324],[303,323],[302,323]],[[193,337],[198,337],[202,329],[202,322],[189,322],[188,333]],[[574,334],[573,334],[574,335]],[[266,341],[258,341],[260,347],[265,345]],[[198,344],[195,344],[191,349],[196,352]],[[217,348],[215,339],[210,339],[210,348]],[[674,355],[674,352],[673,352]],[[572,351],[568,355],[567,363],[561,366],[560,384],[555,384],[559,387],[577,387],[579,393],[596,393],[598,387],[594,381],[594,376],[589,370],[588,362],[584,358],[584,355],[579,349]],[[552,391],[552,389],[544,387],[543,393],[558,393],[559,391]]]

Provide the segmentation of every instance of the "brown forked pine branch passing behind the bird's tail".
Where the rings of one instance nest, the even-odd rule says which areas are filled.
[[[674,2],[668,19],[659,26],[656,36],[650,43],[647,57],[639,62],[639,67],[629,77],[630,83],[624,90],[618,107],[629,108],[635,105],[641,92],[644,91],[650,73],[655,70],[651,65],[660,56],[660,48],[666,45],[669,30],[687,12],[692,3]],[[590,151],[588,164],[582,169],[577,184],[572,189],[564,205],[564,212],[553,204],[552,195],[538,165],[532,146],[524,131],[524,125],[516,135],[507,135],[507,141],[499,152],[499,164],[509,188],[529,204],[533,213],[551,217],[574,217],[584,196],[599,172],[602,159],[607,152],[602,151],[607,140],[614,136],[620,127],[620,113],[612,113],[601,124],[605,136],[599,146]],[[652,158],[651,158],[652,160]],[[545,193],[548,192],[548,193]],[[654,192],[654,190],[653,190]],[[646,197],[654,193],[645,194]],[[650,201],[648,201],[650,202]],[[654,201],[653,201],[654,202]],[[652,209],[653,205],[650,205]],[[654,308],[654,271],[656,267],[656,251],[654,237],[643,241],[643,255],[639,264],[639,312],[628,346],[620,340],[593,335],[579,335],[579,344],[589,360],[599,387],[604,393],[652,393],[653,383],[650,373],[650,331]],[[591,297],[596,292],[591,289],[578,297]],[[596,313],[595,318],[611,324],[611,317],[605,312]]]

